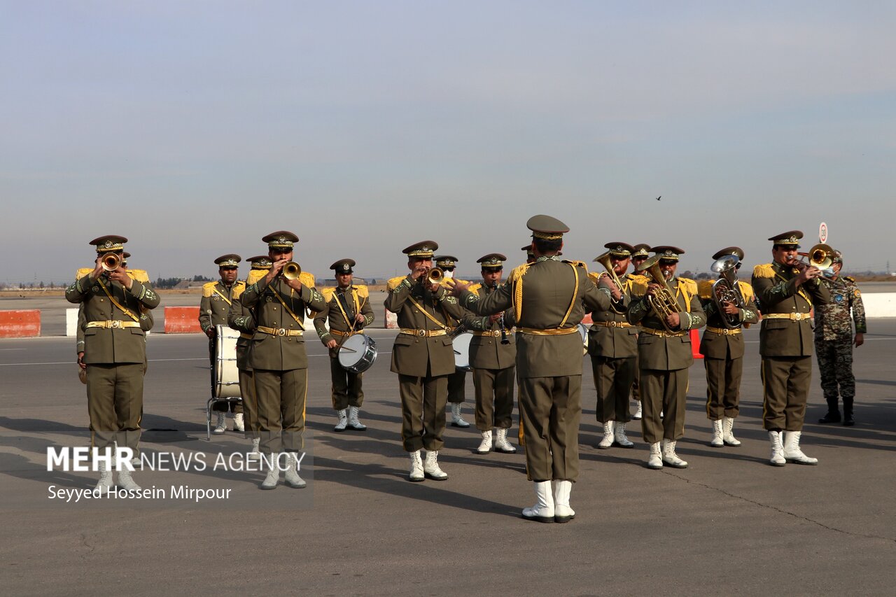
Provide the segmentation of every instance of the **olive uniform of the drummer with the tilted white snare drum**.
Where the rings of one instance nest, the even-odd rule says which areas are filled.
[[[340,273],[339,269],[335,271]],[[364,333],[363,329],[373,323],[374,309],[370,307],[370,295],[367,287],[362,284],[351,284],[348,288],[327,288],[322,293],[326,305],[323,311],[315,314],[314,328],[324,345],[331,340],[336,341],[336,348],[329,350],[333,410],[343,411],[349,406],[360,408],[364,403],[364,390],[361,387],[364,374],[352,373],[343,368],[339,362],[339,350],[351,336]],[[355,321],[358,313],[364,316],[363,324]],[[326,327],[328,322],[329,331]]]

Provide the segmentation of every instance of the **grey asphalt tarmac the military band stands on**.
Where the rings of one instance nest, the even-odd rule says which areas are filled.
[[[169,303],[170,304],[170,303]],[[134,472],[144,489],[230,489],[228,497],[65,502],[90,472],[47,472],[47,447],[88,446],[84,386],[65,337],[0,341],[0,541],[4,594],[886,594],[896,584],[896,321],[871,320],[856,350],[857,425],[821,426],[814,371],[802,446],[817,466],[768,464],[758,331],[747,356],[740,447],[708,446],[702,361],[691,368],[685,470],[644,467],[633,449],[599,450],[584,361],[580,450],[567,524],[520,518],[534,503],[524,457],[478,455],[475,428],[449,427],[449,480],[407,480],[394,332],[373,330],[366,432],[334,433],[327,357],[309,342],[306,489],[261,491],[262,472]],[[205,440],[202,336],[148,342],[144,457],[245,451],[228,432]],[[472,420],[468,377],[464,413]],[[514,418],[516,415],[514,414]],[[515,436],[516,427],[513,428]],[[516,441],[514,439],[514,444]],[[238,459],[237,459],[238,460]],[[160,467],[164,468],[164,467]]]

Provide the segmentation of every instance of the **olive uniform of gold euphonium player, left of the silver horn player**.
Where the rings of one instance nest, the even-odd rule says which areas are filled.
[[[660,248],[664,247],[651,250]],[[676,261],[679,252],[683,253],[680,249],[676,251]],[[677,330],[666,331],[663,320],[647,302],[644,294],[646,287],[633,288],[635,296],[628,307],[629,323],[641,326],[641,333],[638,334],[643,405],[641,428],[644,441],[648,444],[657,444],[662,439],[674,442],[685,436],[688,368],[694,362],[689,330],[706,324],[706,316],[697,297],[696,282],[675,277],[668,281],[668,286],[680,308]]]

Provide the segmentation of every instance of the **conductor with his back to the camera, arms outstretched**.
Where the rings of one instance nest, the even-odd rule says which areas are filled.
[[[480,316],[513,307],[526,471],[538,499],[522,516],[565,523],[575,516],[569,499],[579,476],[582,336],[577,326],[585,309],[607,309],[610,298],[589,280],[582,262],[557,257],[569,231],[562,221],[538,215],[526,226],[532,231],[535,263],[515,268],[508,283],[485,298],[465,284],[454,292]]]

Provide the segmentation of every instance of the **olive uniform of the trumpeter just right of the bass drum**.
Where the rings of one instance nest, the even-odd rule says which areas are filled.
[[[294,235],[292,235],[294,238]],[[267,240],[271,243],[276,241]],[[284,241],[285,242],[285,241]],[[292,247],[289,242],[289,247]],[[281,276],[269,284],[266,273],[250,273],[242,303],[255,317],[249,349],[258,424],[263,454],[297,453],[302,449],[308,385],[308,358],[302,318],[306,307],[323,310],[325,303],[314,289],[314,276],[299,276],[302,290],[289,287]]]

